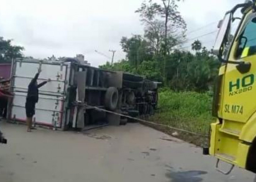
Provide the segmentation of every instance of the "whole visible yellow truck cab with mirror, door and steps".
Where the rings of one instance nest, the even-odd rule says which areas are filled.
[[[215,86],[210,147],[204,154],[256,173],[256,0],[237,4],[220,21],[213,52],[222,62]],[[242,17],[235,17],[241,11]],[[240,21],[234,33],[232,24]],[[207,149],[207,150],[206,150]],[[207,151],[207,152],[206,152]]]

